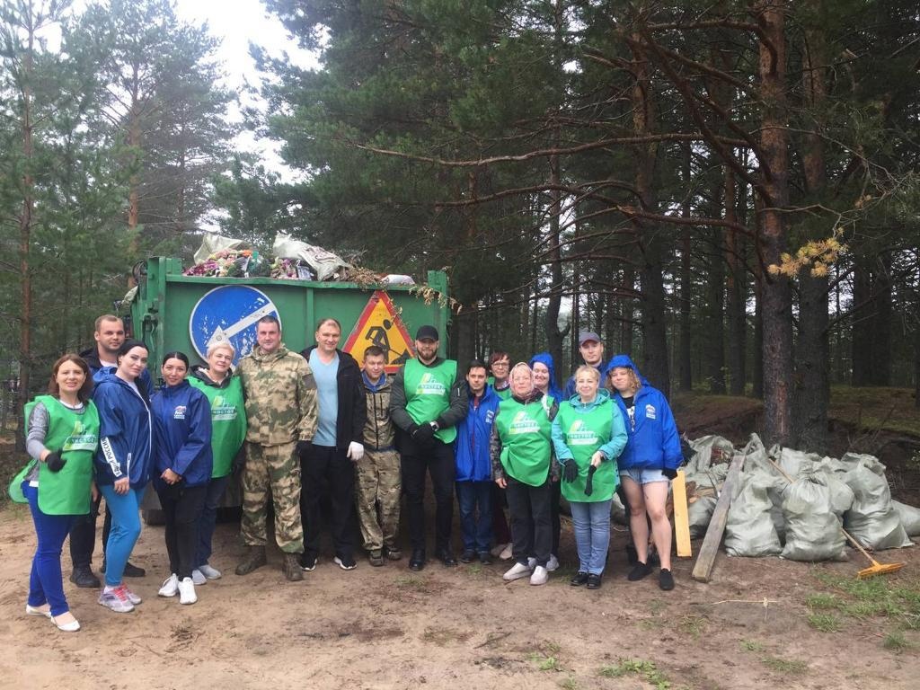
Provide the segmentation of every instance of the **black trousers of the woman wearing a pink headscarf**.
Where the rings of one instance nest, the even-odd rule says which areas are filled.
[[[537,565],[546,566],[553,546],[550,501],[552,489],[547,478],[542,486],[532,487],[507,477],[508,508],[512,516],[512,556],[526,563],[534,554]]]

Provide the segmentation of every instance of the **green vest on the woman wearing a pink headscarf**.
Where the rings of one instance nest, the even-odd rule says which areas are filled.
[[[546,396],[544,396],[546,397]],[[499,403],[495,417],[501,441],[501,466],[524,484],[540,487],[549,476],[552,423],[540,400],[522,405],[513,397]]]

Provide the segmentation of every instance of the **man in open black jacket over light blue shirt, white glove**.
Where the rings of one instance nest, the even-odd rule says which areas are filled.
[[[318,423],[312,445],[300,456],[300,513],[304,523],[304,554],[300,567],[316,568],[322,518],[320,500],[329,500],[329,526],[335,563],[343,570],[357,567],[354,559],[354,464],[364,455],[367,408],[361,369],[338,349],[341,326],[334,318],[316,325],[316,345],[302,351],[316,380]]]

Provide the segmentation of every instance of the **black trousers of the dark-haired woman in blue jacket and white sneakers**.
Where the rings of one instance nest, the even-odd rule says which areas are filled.
[[[166,517],[167,554],[169,572],[178,579],[190,578],[191,571],[198,567],[195,552],[198,549],[199,525],[204,497],[208,485],[186,487],[182,484],[163,485],[156,482],[156,495]]]

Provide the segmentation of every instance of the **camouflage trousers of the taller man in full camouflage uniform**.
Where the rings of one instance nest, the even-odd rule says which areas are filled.
[[[300,458],[296,443],[259,445],[246,443],[243,469],[243,520],[240,535],[247,546],[265,546],[266,514],[274,500],[275,539],[289,554],[304,552],[304,527],[300,521]]]

